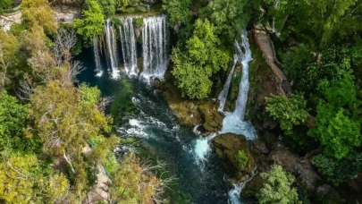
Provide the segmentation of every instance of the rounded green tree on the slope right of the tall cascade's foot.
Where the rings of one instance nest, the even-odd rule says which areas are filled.
[[[294,125],[304,123],[307,119],[307,101],[303,95],[292,94],[290,98],[272,95],[265,100],[265,110],[281,123],[286,134],[291,134]]]

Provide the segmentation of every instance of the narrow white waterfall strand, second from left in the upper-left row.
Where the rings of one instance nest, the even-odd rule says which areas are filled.
[[[107,53],[110,59],[110,65],[112,68],[112,78],[116,79],[119,77],[118,69],[118,54],[117,54],[117,42],[114,35],[114,27],[112,26],[111,20],[105,21],[105,40],[107,44]]]

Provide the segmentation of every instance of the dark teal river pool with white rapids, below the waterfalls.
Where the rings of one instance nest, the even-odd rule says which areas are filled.
[[[88,68],[80,74],[79,80],[97,86],[104,97],[117,97],[122,90],[122,82],[110,78],[112,72],[105,72],[102,77],[95,76],[96,64],[93,60],[88,60],[88,55],[92,52],[92,49],[86,49],[77,57]],[[105,60],[101,62],[105,64]],[[128,123],[117,129],[118,135],[135,138],[139,140],[140,146],[136,149],[124,146],[120,150],[144,149],[167,163],[171,174],[178,178],[169,195],[171,203],[227,203],[231,186],[226,177],[228,170],[221,159],[211,154],[207,157],[207,165],[201,166],[193,149],[198,135],[179,124],[162,92],[138,78],[128,79],[127,75],[122,75],[121,78],[133,85],[132,101],[137,107],[137,114],[129,116]]]

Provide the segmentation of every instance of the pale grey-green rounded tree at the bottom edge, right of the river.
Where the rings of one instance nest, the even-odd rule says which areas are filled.
[[[257,192],[257,200],[261,204],[290,204],[301,203],[298,200],[298,193],[291,188],[295,177],[283,171],[282,166],[273,166],[267,173],[261,174],[264,179],[263,188]]]

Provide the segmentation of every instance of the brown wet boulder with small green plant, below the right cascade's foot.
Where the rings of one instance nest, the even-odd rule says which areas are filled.
[[[248,149],[248,144],[245,136],[235,134],[223,134],[215,137],[213,147],[219,157],[225,159],[234,169],[240,170],[245,174],[250,174],[254,168],[254,157]],[[240,169],[236,155],[240,150],[244,150],[248,155],[248,164],[244,169]]]

